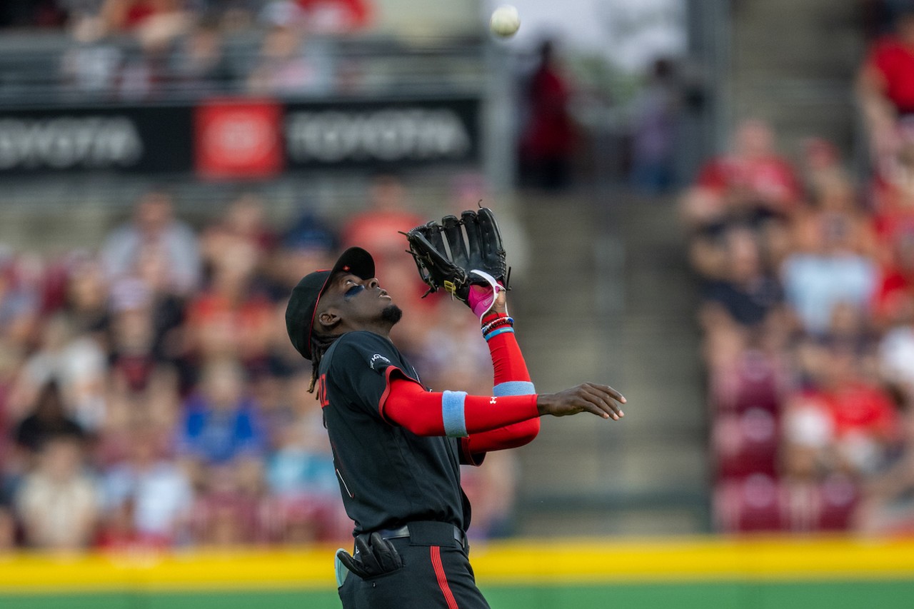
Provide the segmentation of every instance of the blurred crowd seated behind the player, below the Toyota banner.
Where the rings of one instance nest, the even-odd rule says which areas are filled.
[[[310,364],[285,336],[304,273],[367,247],[404,309],[395,339],[430,387],[491,392],[473,315],[425,284],[398,230],[404,180],[378,174],[365,208],[280,227],[239,193],[203,226],[145,193],[95,249],[0,260],[0,548],[167,549],[343,540]],[[460,207],[465,201],[454,201]],[[501,458],[504,456],[505,458]],[[508,455],[468,470],[473,534],[509,524]],[[497,489],[497,492],[492,492]]]

